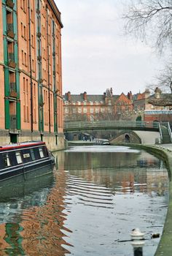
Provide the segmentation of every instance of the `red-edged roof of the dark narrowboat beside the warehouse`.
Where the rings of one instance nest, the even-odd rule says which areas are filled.
[[[32,140],[32,141],[24,141],[21,143],[13,143],[13,144],[8,144],[8,145],[3,145],[0,146],[0,151],[4,151],[4,150],[9,150],[9,149],[17,149],[17,148],[28,148],[28,147],[32,147],[32,146],[41,146],[41,145],[45,145],[44,142],[42,142],[41,140]]]

